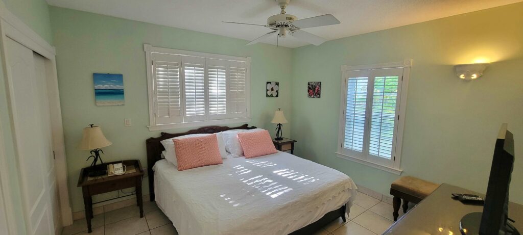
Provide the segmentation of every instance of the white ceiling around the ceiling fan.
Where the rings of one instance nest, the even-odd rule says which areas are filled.
[[[327,40],[410,25],[523,0],[292,0],[287,14],[298,19],[332,14],[339,25],[306,29]],[[261,26],[222,23],[235,21],[265,25],[279,14],[275,0],[47,0],[52,6],[138,20],[175,28],[254,40],[270,30]],[[264,41],[276,44],[276,36]],[[306,45],[291,37],[278,44]]]

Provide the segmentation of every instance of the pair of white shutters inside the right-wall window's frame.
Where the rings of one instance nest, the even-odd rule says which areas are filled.
[[[403,68],[346,72],[340,152],[394,166]]]

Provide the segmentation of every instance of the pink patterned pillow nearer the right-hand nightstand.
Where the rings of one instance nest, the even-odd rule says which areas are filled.
[[[276,148],[272,144],[269,132],[240,132],[238,133],[240,144],[243,148],[245,158],[254,158],[258,156],[276,154]]]

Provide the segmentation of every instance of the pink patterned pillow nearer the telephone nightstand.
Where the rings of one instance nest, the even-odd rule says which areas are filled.
[[[216,134],[173,141],[179,171],[223,163]]]

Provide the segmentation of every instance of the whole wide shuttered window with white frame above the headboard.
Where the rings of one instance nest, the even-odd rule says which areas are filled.
[[[149,130],[251,121],[249,57],[144,45]]]

